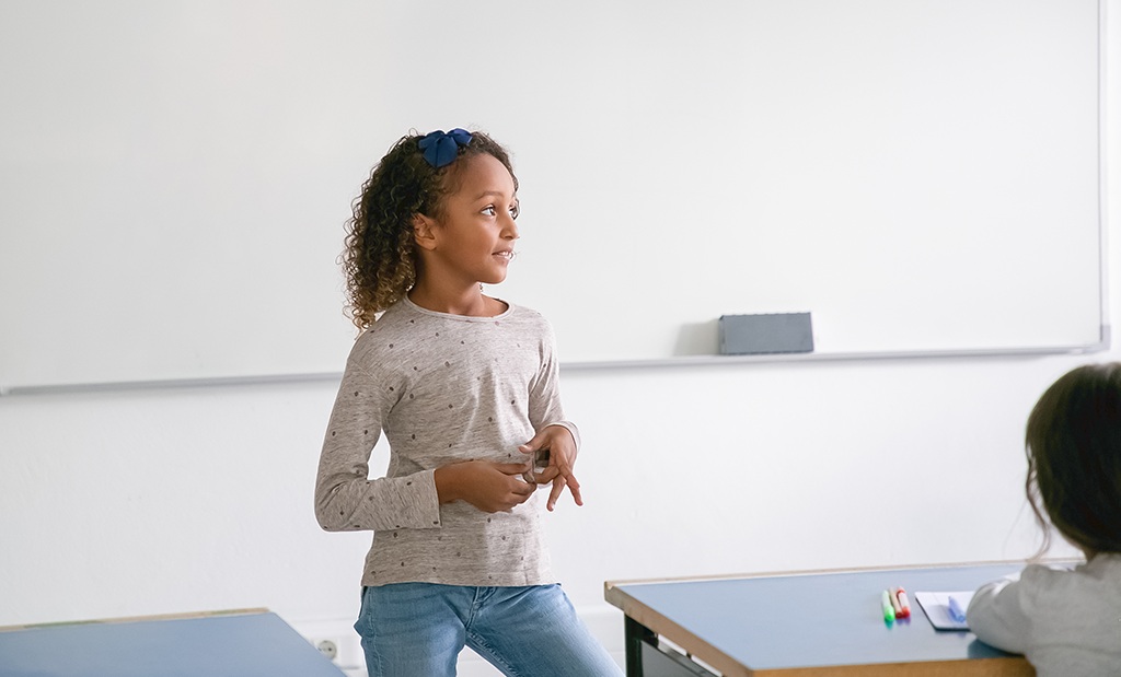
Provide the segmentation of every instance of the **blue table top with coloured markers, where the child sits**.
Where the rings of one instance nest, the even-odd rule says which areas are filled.
[[[751,670],[1008,658],[972,632],[936,630],[915,593],[972,591],[1021,568],[986,564],[609,583],[606,597],[702,660],[708,659],[687,642],[701,640]],[[891,587],[907,591],[909,620],[884,622],[880,599]]]

